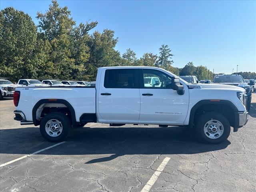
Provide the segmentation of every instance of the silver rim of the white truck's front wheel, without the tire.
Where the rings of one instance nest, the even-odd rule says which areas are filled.
[[[218,120],[210,120],[204,125],[204,134],[210,139],[218,139],[224,132],[223,124]]]

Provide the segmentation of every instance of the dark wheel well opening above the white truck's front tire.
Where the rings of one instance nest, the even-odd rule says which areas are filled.
[[[235,126],[235,113],[232,107],[230,107],[228,104],[203,104],[199,106],[195,112],[193,117],[193,122],[196,122],[197,118],[205,113],[205,112],[217,112],[219,114],[222,114],[224,117],[227,118],[227,120],[230,123],[230,126]]]

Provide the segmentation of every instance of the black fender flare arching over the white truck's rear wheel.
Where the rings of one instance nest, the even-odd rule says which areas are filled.
[[[67,106],[67,108],[70,110],[71,113],[71,120],[72,120],[72,124],[76,124],[76,112],[74,110],[74,108],[72,107],[72,105],[64,100],[64,99],[41,99],[39,100],[33,107],[32,109],[32,119],[33,119],[33,123],[35,126],[40,125],[40,122],[36,119],[36,110],[38,109],[38,107],[42,104],[45,103],[61,103]]]

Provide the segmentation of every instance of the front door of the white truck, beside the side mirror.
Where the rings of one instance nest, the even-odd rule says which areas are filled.
[[[157,77],[160,82],[144,86],[144,78]],[[188,112],[189,93],[184,95],[171,88],[168,74],[156,69],[140,69],[140,123],[183,124]]]

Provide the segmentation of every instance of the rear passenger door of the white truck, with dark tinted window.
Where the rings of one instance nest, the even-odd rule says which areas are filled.
[[[138,69],[106,69],[102,71],[100,79],[98,121],[138,122],[140,116]]]

